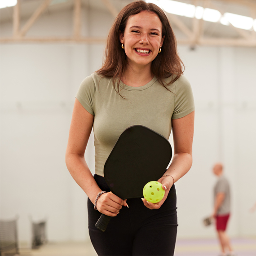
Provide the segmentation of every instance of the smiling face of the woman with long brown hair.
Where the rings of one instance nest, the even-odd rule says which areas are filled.
[[[163,45],[162,23],[156,13],[142,11],[128,18],[119,39],[130,66],[151,66]]]

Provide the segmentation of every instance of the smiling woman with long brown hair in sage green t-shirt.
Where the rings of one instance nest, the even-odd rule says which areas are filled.
[[[194,133],[193,94],[182,75],[183,63],[176,48],[163,11],[155,4],[132,2],[121,10],[110,29],[102,68],[79,87],[66,165],[88,195],[89,235],[98,255],[174,254],[174,183],[191,168]],[[146,126],[167,139],[173,132],[174,156],[159,177],[165,194],[158,203],[140,198],[123,200],[110,192],[104,179],[106,159],[121,133],[132,125]],[[92,128],[94,177],[84,159]],[[121,175],[122,170],[119,172]],[[95,227],[102,213],[114,217],[104,233]]]

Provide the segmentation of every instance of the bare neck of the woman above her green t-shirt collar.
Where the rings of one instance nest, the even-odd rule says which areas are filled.
[[[154,78],[151,72],[151,66],[132,67],[127,65],[127,69],[121,81],[129,86],[139,87],[149,83]]]

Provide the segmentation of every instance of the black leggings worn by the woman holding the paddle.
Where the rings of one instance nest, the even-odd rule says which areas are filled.
[[[110,191],[103,177],[94,175],[99,187]],[[173,185],[158,210],[150,210],[142,200],[128,199],[128,206],[110,220],[105,232],[95,223],[101,213],[88,199],[88,228],[93,247],[100,256],[162,256],[173,255],[177,236],[176,190]]]

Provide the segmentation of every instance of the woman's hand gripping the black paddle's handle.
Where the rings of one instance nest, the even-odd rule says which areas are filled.
[[[126,200],[120,199],[112,192],[102,194],[97,200],[97,210],[111,217],[117,216],[123,206],[127,206]]]

